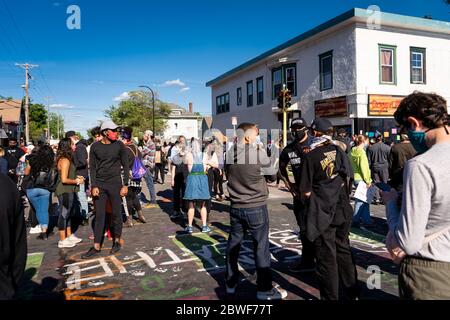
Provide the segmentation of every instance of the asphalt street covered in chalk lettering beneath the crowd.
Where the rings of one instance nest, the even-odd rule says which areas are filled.
[[[274,282],[288,291],[288,299],[317,299],[314,274],[294,274],[289,266],[301,256],[292,198],[270,187],[270,242]],[[29,259],[21,299],[69,300],[236,300],[254,299],[256,274],[252,242],[244,241],[240,265],[244,278],[234,296],[227,296],[224,283],[225,248],[229,230],[227,201],[213,202],[212,232],[183,232],[182,219],[171,220],[171,191],[157,185],[159,208],[144,209],[147,224],[124,229],[123,249],[109,254],[106,241],[101,256],[81,260],[92,245],[89,226],[80,227],[83,242],[72,249],[58,249],[58,236],[47,241],[28,236]],[[361,299],[397,299],[397,267],[383,244],[387,233],[383,206],[371,206],[376,228],[352,229],[351,244],[362,288]],[[199,223],[199,217],[196,218]],[[56,229],[55,229],[56,231]]]

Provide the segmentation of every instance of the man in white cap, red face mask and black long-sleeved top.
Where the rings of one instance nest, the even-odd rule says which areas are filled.
[[[102,140],[95,142],[89,155],[89,172],[92,185],[92,197],[95,205],[94,246],[83,254],[83,259],[98,255],[105,232],[106,202],[112,207],[111,235],[113,246],[111,254],[121,249],[122,236],[122,198],[128,193],[129,176],[125,174],[122,182],[122,168],[129,166],[125,145],[118,141],[118,126],[112,121],[105,121],[100,130]]]

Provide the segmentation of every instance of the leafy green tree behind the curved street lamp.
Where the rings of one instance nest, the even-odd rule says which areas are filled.
[[[120,126],[133,128],[134,136],[141,138],[145,130],[153,127],[151,96],[143,91],[132,91],[129,96],[128,100],[121,101],[118,106],[105,110],[105,115]],[[155,101],[155,135],[164,132],[170,111],[167,103]]]

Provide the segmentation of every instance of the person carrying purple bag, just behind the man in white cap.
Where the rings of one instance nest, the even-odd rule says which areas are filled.
[[[125,127],[122,129],[122,141],[127,148],[128,161],[130,163],[130,184],[128,186],[127,194],[127,207],[129,216],[124,227],[133,226],[132,215],[134,213],[138,214],[138,220],[142,223],[147,223],[144,214],[142,213],[141,202],[139,201],[139,194],[142,191],[141,179],[145,175],[146,168],[142,163],[142,154],[138,147],[133,142],[133,129],[130,127]],[[124,174],[128,172],[124,170]]]

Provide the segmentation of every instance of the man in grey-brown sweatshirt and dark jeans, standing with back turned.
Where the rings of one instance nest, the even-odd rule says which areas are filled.
[[[238,141],[227,153],[225,170],[231,199],[230,236],[226,251],[226,289],[234,294],[239,282],[238,259],[241,242],[249,231],[254,243],[257,273],[257,298],[279,300],[287,296],[283,289],[272,286],[269,251],[269,191],[264,167],[270,159],[263,147],[256,144],[258,129],[242,123],[237,130]]]

